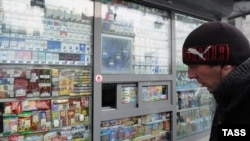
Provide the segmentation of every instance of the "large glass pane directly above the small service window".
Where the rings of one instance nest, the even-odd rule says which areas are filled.
[[[123,0],[104,0],[102,73],[169,74],[170,33],[167,11]]]

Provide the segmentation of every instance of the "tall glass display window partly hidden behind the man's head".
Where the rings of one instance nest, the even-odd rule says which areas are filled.
[[[188,78],[188,67],[182,62],[182,46],[186,37],[205,22],[195,17],[175,14],[177,139],[206,131],[211,126],[212,95],[197,80]]]

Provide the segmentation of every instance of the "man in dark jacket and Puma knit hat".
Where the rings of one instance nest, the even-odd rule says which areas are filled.
[[[217,103],[210,141],[219,140],[222,126],[250,126],[248,39],[230,24],[208,22],[188,35],[182,55],[188,77],[207,87]]]

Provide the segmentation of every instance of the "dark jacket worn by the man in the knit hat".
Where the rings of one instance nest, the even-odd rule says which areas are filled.
[[[250,58],[233,69],[213,92],[217,102],[210,141],[218,141],[218,125],[250,125]]]

